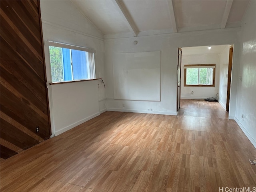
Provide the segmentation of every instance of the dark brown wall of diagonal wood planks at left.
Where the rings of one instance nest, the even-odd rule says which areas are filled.
[[[0,151],[6,159],[51,132],[39,1],[0,1],[0,8]]]

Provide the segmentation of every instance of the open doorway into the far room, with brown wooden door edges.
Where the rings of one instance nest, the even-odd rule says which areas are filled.
[[[232,56],[233,46],[229,44],[218,46],[182,47],[182,56],[181,49],[179,49],[177,74],[180,73],[181,76],[178,76],[177,80],[177,111],[180,106],[182,107],[183,99],[204,100],[210,97],[216,98],[224,110],[228,111],[230,102]],[[193,65],[202,66],[202,64],[207,67],[212,66],[212,64],[216,64],[215,85],[211,87],[206,87],[205,85],[188,86],[187,83],[184,85],[184,75],[186,75],[184,72],[184,66],[186,65],[185,68],[193,68]],[[198,76],[201,75],[199,71],[201,71],[201,69],[198,70]],[[199,77],[197,82],[200,84]]]

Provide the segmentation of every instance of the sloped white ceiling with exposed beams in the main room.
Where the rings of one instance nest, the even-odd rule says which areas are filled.
[[[142,36],[240,27],[248,0],[71,0],[104,35]]]

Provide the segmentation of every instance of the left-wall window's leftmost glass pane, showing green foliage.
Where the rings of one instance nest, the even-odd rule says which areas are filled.
[[[62,48],[49,46],[52,82],[63,81]]]

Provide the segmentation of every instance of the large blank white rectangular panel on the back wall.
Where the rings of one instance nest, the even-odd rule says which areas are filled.
[[[114,99],[160,101],[161,52],[113,53]]]

